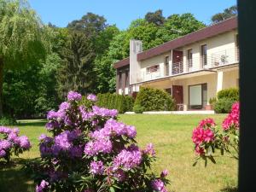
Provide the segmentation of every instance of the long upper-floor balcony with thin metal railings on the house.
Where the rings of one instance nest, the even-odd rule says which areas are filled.
[[[239,50],[237,48],[223,49],[217,52],[209,50],[207,55],[195,54],[193,59],[172,63],[170,67],[160,67],[154,73],[137,73],[137,83],[192,73],[203,69],[214,69],[215,67],[236,64],[238,62]]]

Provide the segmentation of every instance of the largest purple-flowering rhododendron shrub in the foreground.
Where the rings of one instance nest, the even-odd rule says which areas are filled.
[[[117,120],[115,109],[85,107],[82,96],[69,92],[58,111],[49,111],[39,137],[41,164],[36,190],[43,191],[166,191],[168,172],[148,172],[155,151],[151,143],[137,147],[134,126]],[[90,102],[96,96],[89,95]]]

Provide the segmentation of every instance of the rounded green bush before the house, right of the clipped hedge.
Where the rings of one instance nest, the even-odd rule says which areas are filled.
[[[143,107],[145,111],[172,111],[175,103],[165,90],[141,87],[137,94],[135,105]]]

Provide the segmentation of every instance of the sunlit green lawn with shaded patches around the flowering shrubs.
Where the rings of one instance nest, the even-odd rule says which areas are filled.
[[[198,122],[212,117],[218,125],[225,115],[120,115],[126,124],[137,127],[137,142],[144,147],[154,143],[157,161],[153,166],[155,172],[167,168],[170,172],[169,191],[181,192],[217,192],[236,191],[237,162],[220,157],[217,165],[211,163],[205,168],[203,162],[193,167],[195,154],[191,142],[191,131]],[[36,158],[38,153],[38,136],[45,133],[44,120],[20,121],[20,133],[32,141],[32,149],[15,159],[9,167],[0,164],[0,191],[27,192],[34,191],[34,183],[20,167],[25,161]]]

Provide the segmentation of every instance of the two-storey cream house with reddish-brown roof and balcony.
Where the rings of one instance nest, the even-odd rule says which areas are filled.
[[[130,57],[114,63],[116,91],[136,96],[140,87],[165,89],[180,110],[208,109],[219,90],[238,87],[237,18],[207,26],[143,51],[130,41]]]

